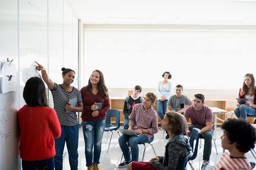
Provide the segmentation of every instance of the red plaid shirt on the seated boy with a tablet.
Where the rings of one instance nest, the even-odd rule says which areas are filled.
[[[151,106],[148,110],[145,110],[142,103],[135,104],[129,116],[129,125],[133,125],[133,130],[147,129],[149,131],[149,133],[145,133],[148,140],[158,131],[157,121],[158,115],[153,107]]]

